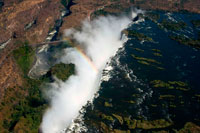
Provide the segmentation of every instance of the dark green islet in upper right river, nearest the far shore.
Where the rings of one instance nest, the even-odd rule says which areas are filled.
[[[166,19],[162,20],[161,25],[168,30],[181,30],[187,26],[184,22],[170,22]]]

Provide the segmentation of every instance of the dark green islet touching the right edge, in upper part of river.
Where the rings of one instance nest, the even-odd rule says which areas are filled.
[[[200,49],[200,38],[196,39],[192,39],[192,38],[186,38],[185,36],[169,36],[172,40],[177,41],[180,44],[184,44],[184,45],[189,45],[195,48]]]

